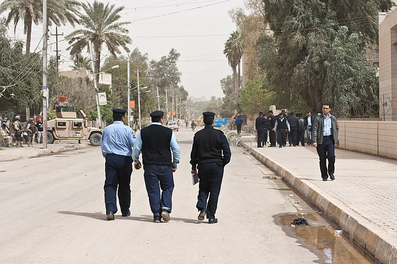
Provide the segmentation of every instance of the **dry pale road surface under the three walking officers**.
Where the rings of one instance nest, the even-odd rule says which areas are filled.
[[[2,161],[1,263],[311,263],[273,215],[296,212],[262,165],[234,152],[226,166],[219,222],[197,220],[190,175],[192,131],[176,132],[182,163],[174,174],[171,221],[155,224],[143,182],[132,172],[132,215],[106,221],[99,148]],[[254,164],[255,163],[255,164]]]

